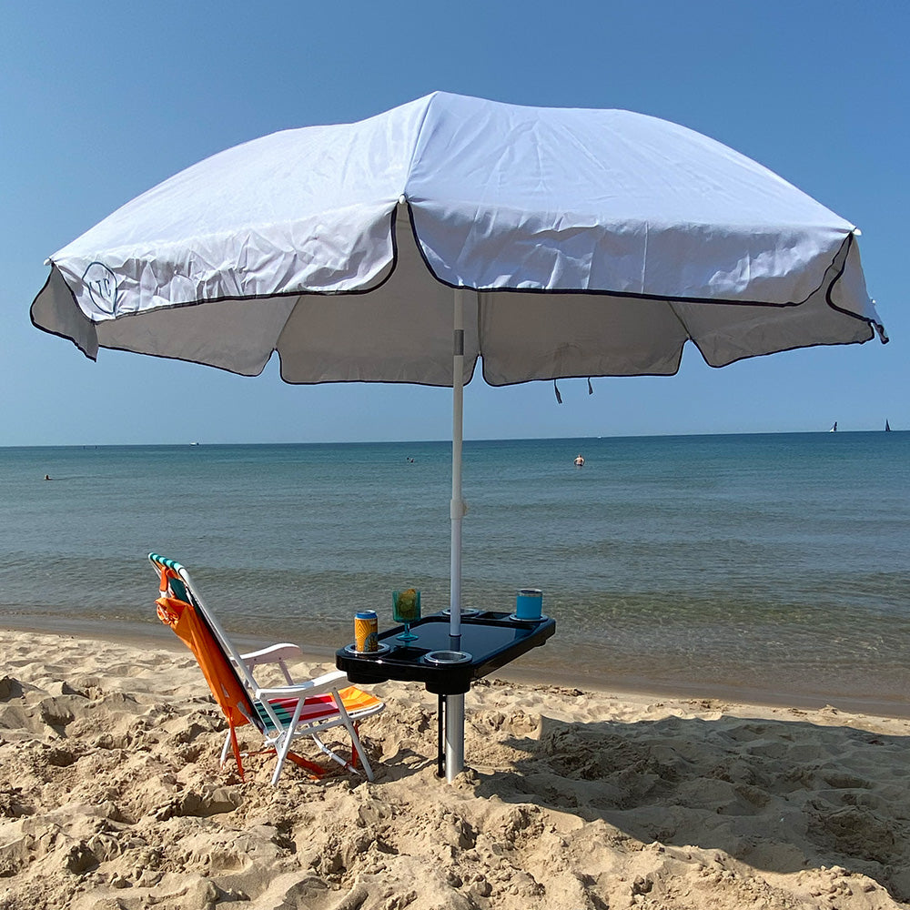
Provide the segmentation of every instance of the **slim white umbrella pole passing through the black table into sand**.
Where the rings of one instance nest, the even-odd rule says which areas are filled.
[[[455,330],[452,345],[452,521],[449,636],[450,647],[461,647],[461,437],[464,415],[464,290],[455,291]],[[447,695],[445,764],[446,781],[451,784],[464,768],[464,695]]]

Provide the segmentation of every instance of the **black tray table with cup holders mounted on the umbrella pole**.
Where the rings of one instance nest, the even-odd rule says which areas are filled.
[[[335,652],[335,665],[355,685],[422,682],[428,692],[440,696],[440,777],[445,775],[442,730],[446,696],[468,692],[471,682],[539,647],[556,632],[556,621],[547,616],[516,620],[509,613],[476,612],[462,614],[460,642],[453,642],[449,623],[448,612],[433,613],[411,623],[410,631],[417,635],[414,641],[399,641],[404,626],[395,626],[379,633],[379,652],[359,653],[353,645]]]

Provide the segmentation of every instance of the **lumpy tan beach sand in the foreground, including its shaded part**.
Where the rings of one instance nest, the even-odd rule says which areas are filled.
[[[188,652],[0,630],[0,907],[910,905],[910,720],[490,679],[449,785],[435,696],[372,691],[374,783],[272,789]]]

